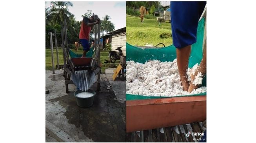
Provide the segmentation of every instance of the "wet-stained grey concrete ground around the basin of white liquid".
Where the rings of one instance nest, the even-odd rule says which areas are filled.
[[[73,84],[69,84],[70,92],[65,93],[63,70],[55,73],[45,71],[45,91],[49,90],[45,94],[45,120],[77,142],[125,142],[125,80],[113,81],[113,70],[106,69],[106,74],[101,74],[101,91],[96,92],[93,106],[82,108],[76,105]],[[114,87],[107,90],[105,85],[109,83]],[[96,91],[97,84],[90,89]],[[57,140],[46,132],[45,141]]]

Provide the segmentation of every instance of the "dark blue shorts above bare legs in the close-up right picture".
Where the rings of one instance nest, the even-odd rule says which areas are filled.
[[[198,20],[206,2],[171,2],[172,41],[176,48],[196,43]]]

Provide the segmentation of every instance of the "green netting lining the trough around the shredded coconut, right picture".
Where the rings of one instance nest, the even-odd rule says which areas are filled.
[[[191,68],[196,63],[200,63],[203,56],[203,32],[204,32],[205,18],[202,18],[198,23],[197,29],[197,41],[192,45],[191,56],[189,58],[189,67]],[[138,63],[145,63],[149,60],[159,60],[162,62],[173,61],[176,58],[176,49],[174,45],[170,45],[163,48],[138,48],[126,43],[126,61],[134,61]],[[206,86],[206,77],[202,81],[202,85]],[[206,93],[200,93],[195,95],[184,96],[198,96],[205,95]],[[148,97],[142,95],[126,94],[126,100],[138,100],[138,99],[152,99],[152,98],[167,98],[167,97]]]

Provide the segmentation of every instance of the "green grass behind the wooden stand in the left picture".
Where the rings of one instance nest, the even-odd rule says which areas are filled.
[[[76,50],[73,50],[75,52]],[[83,50],[82,48],[78,48],[77,54],[82,54]],[[106,68],[117,68],[118,64],[120,63],[120,60],[116,60],[115,63],[107,63],[105,64],[105,59],[109,60],[109,52],[108,51],[100,51],[100,62],[102,63],[102,73],[105,73]],[[59,64],[63,65],[63,52],[62,48],[58,48],[58,56],[59,56]],[[55,64],[55,69],[57,65],[57,59],[56,59],[56,49],[54,48],[54,64]],[[52,70],[52,63],[51,63],[51,49],[45,49],[45,70]]]

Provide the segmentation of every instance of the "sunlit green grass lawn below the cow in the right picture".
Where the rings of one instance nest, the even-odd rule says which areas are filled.
[[[131,45],[153,44],[156,46],[158,43],[163,43],[165,46],[172,45],[170,35],[170,23],[159,24],[156,19],[145,18],[144,22],[141,22],[139,17],[126,15],[126,40]]]

